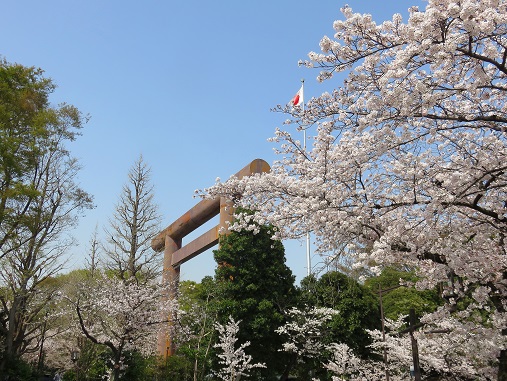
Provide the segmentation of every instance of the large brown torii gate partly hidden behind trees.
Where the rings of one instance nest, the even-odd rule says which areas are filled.
[[[269,172],[269,164],[262,159],[255,159],[234,176],[242,178],[254,173]],[[185,236],[220,214],[220,222],[198,238],[182,247]],[[234,210],[232,202],[224,197],[202,200],[167,228],[157,234],[151,241],[151,247],[157,252],[164,251],[163,281],[171,285],[171,295],[176,297],[180,279],[180,266],[215,246],[221,234],[227,233],[227,222],[232,222]],[[225,233],[220,233],[222,230]],[[175,346],[170,337],[161,337],[158,352],[162,356],[174,354]]]

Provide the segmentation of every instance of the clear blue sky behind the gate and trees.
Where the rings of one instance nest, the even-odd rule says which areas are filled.
[[[163,227],[198,200],[194,190],[227,179],[253,159],[275,159],[267,142],[305,79],[305,98],[339,86],[318,84],[298,67],[318,51],[346,0],[16,0],[2,2],[0,56],[45,70],[58,85],[52,101],[91,116],[71,146],[79,182],[96,208],[74,231],[78,267],[99,233],[134,161],[152,169]],[[377,22],[421,0],[349,0]],[[184,241],[185,243],[185,241]],[[298,281],[304,243],[286,245]],[[313,258],[316,264],[318,258]],[[211,251],[182,266],[182,277],[213,275]]]

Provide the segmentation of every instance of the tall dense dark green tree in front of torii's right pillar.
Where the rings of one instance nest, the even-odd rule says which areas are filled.
[[[294,303],[296,292],[284,247],[272,235],[267,226],[259,226],[257,234],[233,232],[222,237],[220,248],[214,251],[218,321],[225,324],[229,316],[241,321],[238,342],[250,341],[245,352],[254,362],[267,365],[256,370],[264,380],[285,371],[287,358],[278,352],[282,338],[275,329],[284,324],[284,310]]]

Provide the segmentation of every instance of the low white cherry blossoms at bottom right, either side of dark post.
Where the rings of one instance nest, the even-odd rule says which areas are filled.
[[[412,343],[410,336],[400,334],[405,325],[404,317],[397,320],[386,320],[387,332],[371,330],[372,350],[379,357],[384,348],[387,356],[387,372],[392,381],[406,380],[412,364]],[[415,332],[418,342],[419,363],[426,377],[438,377],[439,380],[496,380],[496,370],[490,363],[484,362],[481,355],[484,351],[496,350],[498,342],[485,340],[487,332],[479,332],[488,328],[480,327],[472,322],[463,324],[457,319],[454,325],[441,324],[439,327],[425,327]],[[453,335],[442,332],[452,330]],[[470,356],[460,352],[470,351]],[[344,343],[333,343],[328,347],[332,351],[332,359],[324,364],[336,380],[347,377],[350,380],[385,380],[385,364],[375,359],[361,359]],[[464,361],[463,361],[464,360]]]

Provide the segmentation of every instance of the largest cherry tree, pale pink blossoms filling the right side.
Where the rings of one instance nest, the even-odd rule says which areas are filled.
[[[342,12],[321,52],[301,61],[334,90],[304,111],[278,107],[289,127],[307,130],[311,149],[278,129],[270,173],[205,193],[257,211],[236,229],[254,221],[276,226],[276,238],[311,231],[322,253],[374,271],[417,269],[418,288],[443,288],[447,314],[431,315],[440,323],[491,308],[481,324],[498,327],[497,351],[474,356],[496,360],[505,380],[507,2],[429,0],[406,22],[396,14],[380,24]]]

